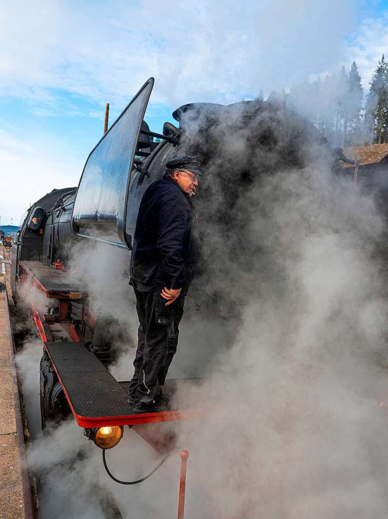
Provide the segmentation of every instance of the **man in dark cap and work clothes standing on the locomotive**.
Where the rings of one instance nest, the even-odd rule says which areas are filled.
[[[197,217],[190,200],[202,175],[195,156],[175,157],[145,191],[133,238],[130,284],[140,326],[129,387],[133,413],[154,413],[178,344],[178,326],[197,261]]]

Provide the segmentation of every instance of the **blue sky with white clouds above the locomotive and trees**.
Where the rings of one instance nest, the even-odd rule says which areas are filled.
[[[13,2],[0,7],[0,216],[77,185],[103,131],[149,76],[146,120],[228,104],[388,53],[388,0]],[[6,194],[6,196],[3,196]]]

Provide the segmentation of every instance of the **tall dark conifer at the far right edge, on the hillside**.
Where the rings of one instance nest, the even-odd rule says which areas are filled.
[[[376,142],[388,142],[388,63],[384,54],[370,81],[365,126]]]

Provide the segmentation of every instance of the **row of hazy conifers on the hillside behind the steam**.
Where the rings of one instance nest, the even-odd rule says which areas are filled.
[[[264,100],[259,90],[258,100]],[[293,84],[288,91],[272,91],[269,101],[280,102],[307,117],[337,146],[388,143],[388,61],[378,62],[369,90],[353,61],[337,74]]]

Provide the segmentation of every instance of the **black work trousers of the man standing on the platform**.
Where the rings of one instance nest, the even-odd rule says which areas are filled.
[[[140,326],[129,397],[135,404],[147,404],[158,399],[160,386],[176,353],[179,322],[183,316],[185,296],[179,295],[174,303],[165,306],[160,292],[141,292],[133,287]]]

